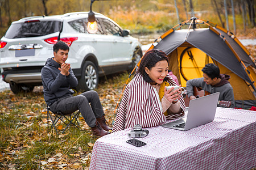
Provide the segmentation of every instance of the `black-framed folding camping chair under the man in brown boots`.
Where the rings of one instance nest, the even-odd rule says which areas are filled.
[[[51,113],[53,114],[53,116],[52,116]],[[80,114],[79,110],[75,111],[71,114],[63,114],[61,112],[53,113],[51,111],[51,109],[49,108],[49,106],[47,105],[47,129],[49,129],[49,118],[52,121],[52,125],[51,125],[50,129],[54,128],[56,130],[57,134],[59,134],[59,133],[57,131],[56,124],[59,120],[66,125],[66,127],[62,131],[62,133],[64,133],[64,131],[68,128],[69,125],[74,125],[76,128],[79,129],[80,125],[79,125],[79,122],[77,121],[77,118],[79,117],[79,114]],[[67,122],[65,122],[65,121],[67,121]]]

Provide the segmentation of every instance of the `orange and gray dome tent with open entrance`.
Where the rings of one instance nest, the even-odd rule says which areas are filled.
[[[149,49],[153,48],[162,50],[170,58],[169,69],[182,87],[187,80],[202,77],[201,69],[205,64],[215,63],[221,74],[230,75],[236,107],[256,106],[256,66],[248,50],[232,32],[193,17],[156,39]]]

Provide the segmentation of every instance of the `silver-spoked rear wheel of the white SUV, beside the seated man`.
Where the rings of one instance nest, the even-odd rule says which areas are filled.
[[[91,61],[85,61],[77,90],[94,90],[98,86],[98,69]]]

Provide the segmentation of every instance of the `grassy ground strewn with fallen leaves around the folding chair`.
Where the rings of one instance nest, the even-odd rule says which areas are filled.
[[[127,76],[116,74],[101,80],[96,90],[109,125]],[[63,134],[47,131],[42,86],[32,93],[0,92],[0,169],[89,169],[97,137],[82,116],[78,121],[80,130],[71,127]],[[56,128],[63,130],[65,125],[57,124]]]

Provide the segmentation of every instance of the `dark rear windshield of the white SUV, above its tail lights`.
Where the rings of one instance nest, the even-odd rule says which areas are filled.
[[[59,21],[31,21],[11,24],[5,37],[8,39],[18,39],[23,37],[38,37],[48,35],[60,30]]]

